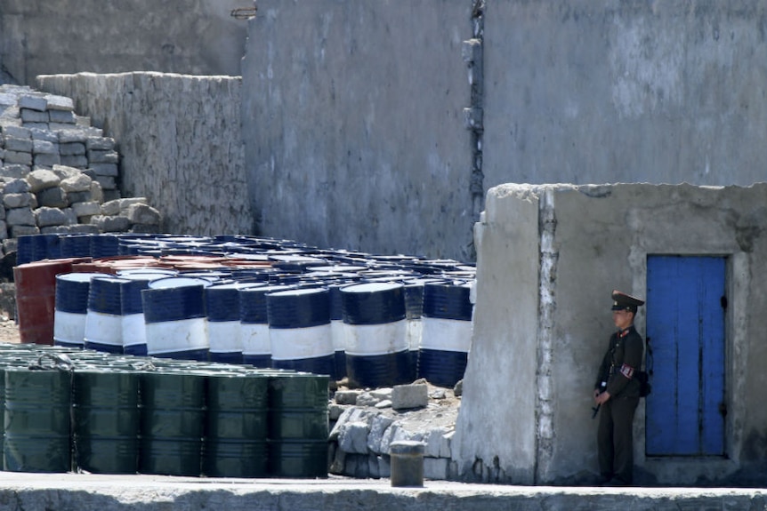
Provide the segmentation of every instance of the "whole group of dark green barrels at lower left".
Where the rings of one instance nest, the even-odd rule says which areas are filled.
[[[0,345],[2,468],[327,476],[327,376]]]

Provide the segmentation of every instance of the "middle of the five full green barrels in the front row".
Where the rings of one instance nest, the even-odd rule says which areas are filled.
[[[205,382],[204,375],[182,369],[141,372],[141,474],[200,475]]]

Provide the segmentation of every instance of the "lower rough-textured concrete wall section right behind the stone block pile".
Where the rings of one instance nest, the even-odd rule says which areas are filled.
[[[147,197],[164,232],[252,234],[241,80],[158,73],[38,77],[117,141],[120,191]]]

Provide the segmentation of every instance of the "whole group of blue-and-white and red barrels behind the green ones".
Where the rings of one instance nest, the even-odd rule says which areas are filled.
[[[463,378],[472,265],[258,236],[18,242],[23,342],[244,363],[357,387],[416,378],[449,387]]]

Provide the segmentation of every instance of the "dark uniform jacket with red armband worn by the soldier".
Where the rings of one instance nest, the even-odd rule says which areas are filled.
[[[607,382],[611,398],[639,397],[637,373],[642,369],[644,341],[632,324],[626,330],[610,336],[610,346],[602,358],[594,388],[601,388]]]

